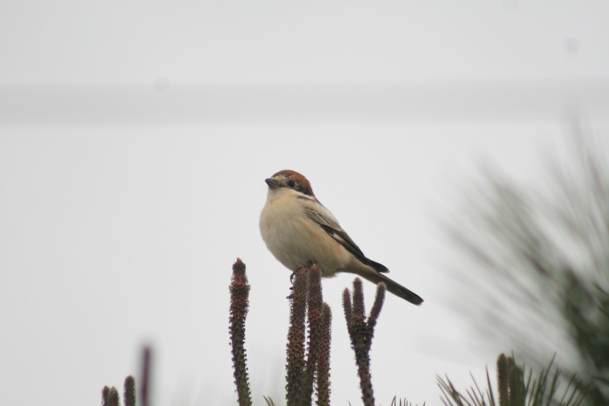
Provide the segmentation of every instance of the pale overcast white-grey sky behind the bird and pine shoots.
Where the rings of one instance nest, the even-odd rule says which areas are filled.
[[[2,2],[2,399],[98,404],[150,343],[156,405],[234,404],[239,256],[253,398],[281,404],[290,274],[258,232],[281,169],[426,300],[385,301],[378,403],[484,382],[510,348],[452,310],[438,220],[481,161],[530,178],[572,114],[609,131],[609,4],[521,3]],[[352,279],[323,282],[334,404],[360,397]]]

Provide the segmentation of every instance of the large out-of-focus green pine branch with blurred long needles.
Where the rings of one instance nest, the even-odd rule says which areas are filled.
[[[509,337],[527,363],[558,351],[560,369],[591,384],[584,404],[606,406],[609,159],[600,139],[576,131],[571,159],[556,161],[544,183],[487,172],[451,234],[479,270],[463,282],[470,292],[460,297],[478,299],[463,313],[479,325],[492,320],[487,334]]]

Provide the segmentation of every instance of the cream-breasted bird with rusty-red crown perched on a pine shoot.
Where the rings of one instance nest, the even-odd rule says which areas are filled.
[[[322,276],[354,273],[417,306],[423,299],[388,278],[389,269],[372,261],[357,247],[338,220],[317,200],[311,183],[294,170],[281,170],[265,180],[267,200],[260,213],[260,234],[269,251],[295,271],[319,265]]]

